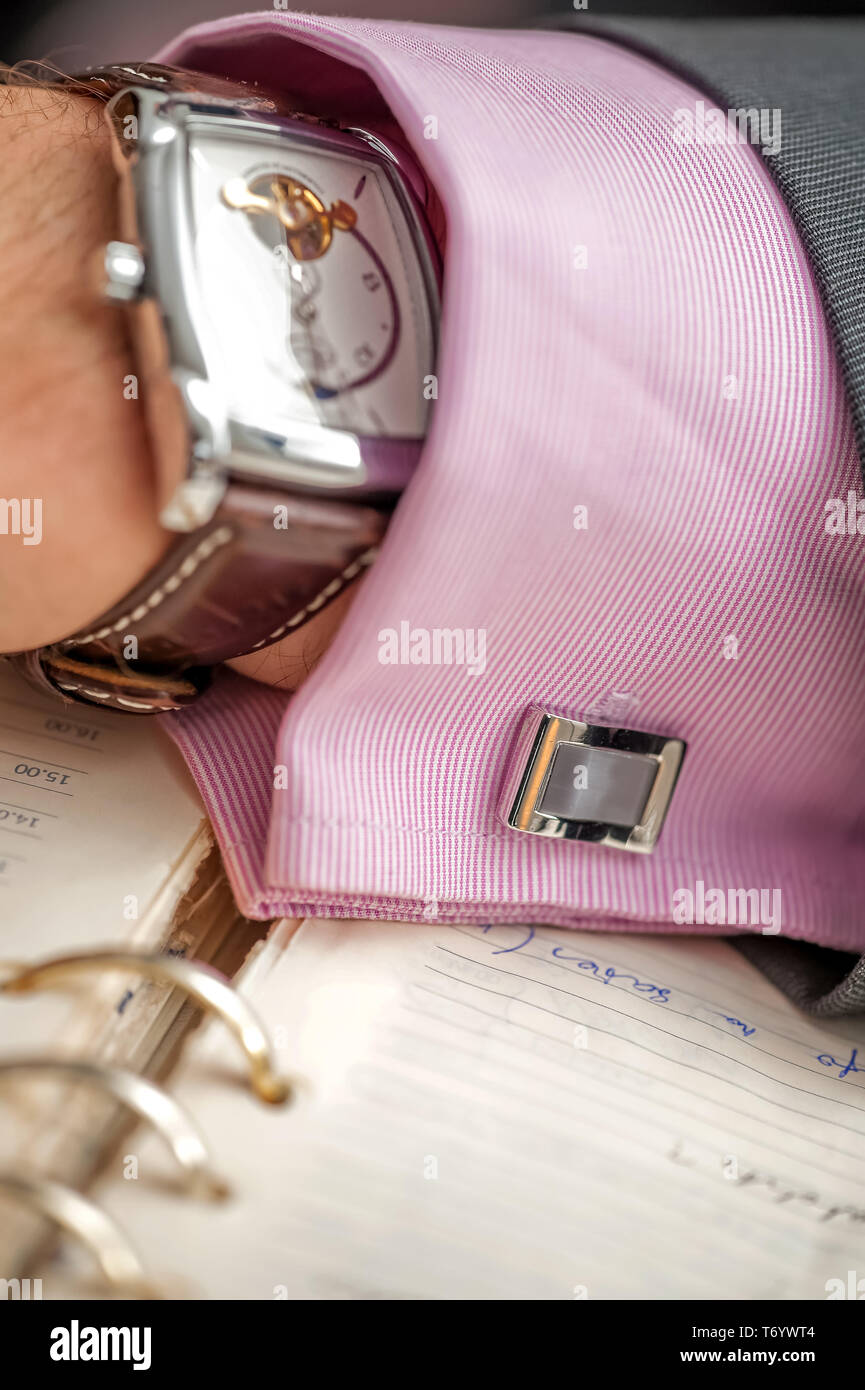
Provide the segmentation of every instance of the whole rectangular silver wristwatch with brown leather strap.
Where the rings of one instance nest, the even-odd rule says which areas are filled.
[[[100,289],[132,318],[172,542],[88,630],[13,662],[147,714],[374,559],[437,395],[444,218],[391,132],[156,64],[63,85],[106,103],[120,199]]]

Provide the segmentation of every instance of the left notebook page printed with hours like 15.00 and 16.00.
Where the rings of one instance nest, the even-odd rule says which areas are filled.
[[[150,940],[204,826],[150,720],[64,706],[0,664],[0,960]],[[70,1016],[56,994],[0,999],[0,1051],[51,1051]]]

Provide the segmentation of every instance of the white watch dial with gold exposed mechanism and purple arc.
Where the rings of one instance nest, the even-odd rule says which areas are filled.
[[[188,135],[199,341],[229,418],[421,438],[430,274],[381,157],[313,131]]]

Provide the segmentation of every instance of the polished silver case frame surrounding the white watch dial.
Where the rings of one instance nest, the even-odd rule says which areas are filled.
[[[129,106],[134,111],[129,111]],[[189,128],[218,124],[253,139],[285,139],[349,150],[375,163],[406,221],[427,297],[435,352],[439,275],[435,250],[399,163],[377,136],[274,115],[200,93],[122,88],[106,106],[120,177],[120,236],[143,254],[140,284],[129,299],[145,407],[161,478],[178,480],[160,500],[171,531],[193,531],[216,513],[229,478],[323,495],[350,495],[367,482],[363,439],[350,431],[298,421],[277,448],[271,435],[248,431],[249,448],[232,445],[229,417],[209,379],[202,348],[207,321],[193,261]],[[134,133],[124,122],[135,115]],[[121,250],[122,250],[121,243]],[[117,243],[113,243],[117,246]],[[170,311],[165,306],[171,306]],[[235,423],[235,435],[238,425]],[[181,460],[179,448],[186,439]]]

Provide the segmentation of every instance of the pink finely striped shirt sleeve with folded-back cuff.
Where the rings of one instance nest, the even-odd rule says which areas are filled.
[[[389,110],[448,218],[432,428],[348,623],[295,698],[225,673],[167,720],[243,909],[677,930],[702,883],[862,948],[858,464],[759,153],[573,33],[275,14],[163,57]],[[412,659],[437,630],[463,662]],[[651,855],[498,820],[530,705],[687,741]]]

